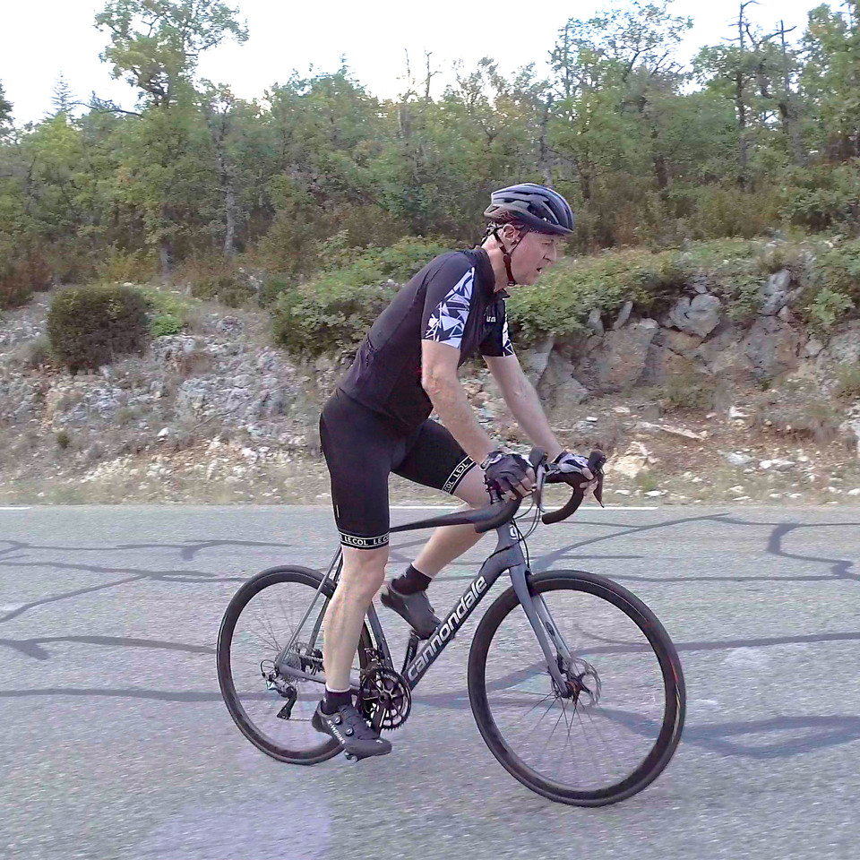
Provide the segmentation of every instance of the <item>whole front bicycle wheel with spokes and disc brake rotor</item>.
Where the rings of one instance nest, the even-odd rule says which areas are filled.
[[[684,675],[675,646],[648,606],[591,573],[529,578],[543,601],[568,689],[546,668],[510,588],[486,611],[469,651],[469,701],[504,769],[563,804],[601,806],[648,786],[684,727]],[[563,649],[561,649],[563,650]]]

